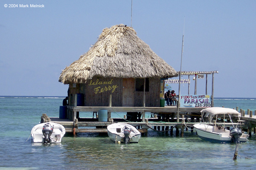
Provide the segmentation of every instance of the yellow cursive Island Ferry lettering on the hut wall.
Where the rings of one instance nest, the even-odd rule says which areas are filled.
[[[104,86],[98,86],[96,88],[94,88],[94,93],[102,93],[104,91],[111,91],[112,93],[116,90],[116,88],[118,88],[119,86],[117,85],[112,85],[113,79],[111,79],[111,81],[105,81],[105,82],[101,82],[99,81],[99,79],[96,80],[96,82],[93,82],[92,80],[90,80],[89,85],[104,85]]]

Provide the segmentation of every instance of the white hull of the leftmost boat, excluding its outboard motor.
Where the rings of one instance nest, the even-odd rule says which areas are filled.
[[[60,143],[62,137],[66,133],[64,126],[58,123],[49,122],[51,125],[54,125],[52,135],[50,136],[50,143]],[[43,126],[47,123],[41,123],[35,125],[31,130],[31,139],[33,143],[44,143],[44,135],[43,135]]]

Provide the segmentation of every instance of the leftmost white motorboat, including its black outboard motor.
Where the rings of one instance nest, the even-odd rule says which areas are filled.
[[[60,143],[66,133],[64,126],[53,123],[41,123],[31,130],[31,138],[34,143]]]

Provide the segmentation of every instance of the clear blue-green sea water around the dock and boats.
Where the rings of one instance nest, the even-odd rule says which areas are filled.
[[[256,137],[239,144],[205,142],[191,133],[183,137],[148,130],[139,143],[115,144],[98,133],[65,136],[61,144],[33,144],[30,132],[42,113],[59,116],[64,97],[0,96],[0,170],[255,170]],[[215,107],[256,110],[256,98],[216,98]],[[122,115],[122,113],[120,113]],[[82,113],[80,117],[92,117]],[[118,114],[112,114],[119,117]],[[146,117],[150,116],[146,114]]]

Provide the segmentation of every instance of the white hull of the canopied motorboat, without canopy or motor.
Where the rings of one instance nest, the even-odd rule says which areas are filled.
[[[198,137],[205,141],[215,143],[232,143],[229,130],[223,130],[223,132],[214,132],[214,126],[204,124],[195,124],[194,127]],[[247,142],[248,137],[249,135],[242,134],[239,141]]]

